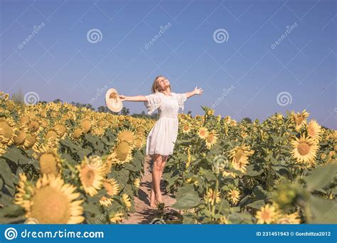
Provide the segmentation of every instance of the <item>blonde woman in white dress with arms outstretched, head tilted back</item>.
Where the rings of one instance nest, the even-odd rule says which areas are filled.
[[[203,94],[197,87],[192,92],[171,92],[171,85],[164,76],[158,76],[152,85],[151,95],[125,96],[119,95],[122,101],[144,102],[148,114],[159,109],[159,120],[149,132],[146,139],[146,155],[151,155],[154,161],[152,170],[151,207],[163,203],[160,191],[160,180],[165,163],[169,155],[173,154],[173,147],[178,136],[178,109],[183,110],[183,103],[193,95]]]

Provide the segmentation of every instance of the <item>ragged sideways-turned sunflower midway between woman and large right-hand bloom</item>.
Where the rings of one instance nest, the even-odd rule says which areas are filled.
[[[241,146],[232,148],[232,150],[230,150],[228,153],[232,159],[233,168],[235,168],[237,171],[245,173],[248,164],[248,156],[252,155],[254,151],[250,150],[249,146],[245,146],[245,144],[243,144]]]

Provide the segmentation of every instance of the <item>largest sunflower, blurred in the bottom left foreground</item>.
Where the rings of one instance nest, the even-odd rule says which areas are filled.
[[[75,190],[75,186],[53,174],[43,174],[35,187],[21,175],[15,203],[23,206],[27,218],[41,224],[79,224],[85,217],[83,200],[78,200],[80,193]]]

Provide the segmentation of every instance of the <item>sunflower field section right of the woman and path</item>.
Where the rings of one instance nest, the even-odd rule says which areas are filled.
[[[163,177],[187,224],[337,223],[337,131],[309,113],[260,123],[181,114]]]

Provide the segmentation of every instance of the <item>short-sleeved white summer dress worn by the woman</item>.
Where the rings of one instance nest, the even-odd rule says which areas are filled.
[[[149,132],[146,139],[146,155],[158,153],[161,156],[173,154],[174,144],[178,136],[178,110],[183,110],[186,94],[171,92],[171,96],[156,92],[145,96],[144,102],[148,114],[159,110],[159,120]]]

